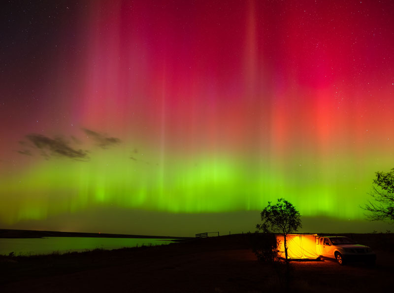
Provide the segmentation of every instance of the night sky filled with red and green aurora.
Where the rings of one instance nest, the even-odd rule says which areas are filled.
[[[393,1],[2,5],[1,228],[361,223],[394,166]]]

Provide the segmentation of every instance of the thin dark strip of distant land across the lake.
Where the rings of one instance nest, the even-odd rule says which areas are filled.
[[[0,238],[42,238],[42,237],[101,237],[101,238],[160,238],[160,239],[190,238],[190,237],[175,237],[175,236],[0,229]]]

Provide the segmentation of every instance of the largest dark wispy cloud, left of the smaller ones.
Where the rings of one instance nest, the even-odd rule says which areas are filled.
[[[59,156],[75,160],[89,160],[87,151],[73,149],[69,146],[68,142],[62,138],[50,138],[34,133],[26,135],[26,138],[31,141],[33,146],[39,149],[41,151],[41,155],[46,158],[50,156]],[[45,151],[49,151],[49,154]]]

